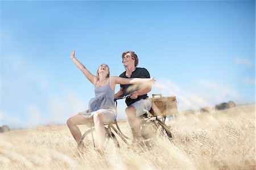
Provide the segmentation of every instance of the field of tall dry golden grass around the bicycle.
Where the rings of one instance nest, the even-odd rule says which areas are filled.
[[[67,126],[0,134],[0,169],[255,169],[255,105],[185,114],[167,122],[175,139],[150,148],[76,148]],[[127,122],[119,122],[131,134]],[[85,126],[80,126],[82,131]]]

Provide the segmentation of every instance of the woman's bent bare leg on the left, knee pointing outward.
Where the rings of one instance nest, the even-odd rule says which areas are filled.
[[[79,140],[82,136],[81,131],[77,127],[77,125],[84,125],[86,123],[88,123],[88,121],[81,114],[77,114],[69,118],[67,121],[68,128],[71,131],[71,134],[73,135],[77,143],[79,143]]]

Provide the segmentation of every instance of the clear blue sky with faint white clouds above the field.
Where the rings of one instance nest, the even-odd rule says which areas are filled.
[[[112,76],[125,71],[122,52],[135,51],[156,78],[149,96],[176,96],[179,110],[255,102],[255,1],[0,4],[0,126],[64,124],[88,108],[93,85],[73,49],[90,72],[106,63]]]

